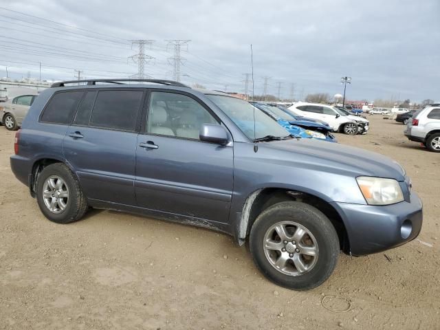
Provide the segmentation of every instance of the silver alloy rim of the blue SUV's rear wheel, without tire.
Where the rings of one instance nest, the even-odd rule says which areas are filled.
[[[59,214],[69,202],[69,188],[58,175],[48,177],[43,185],[43,200],[50,212]]]

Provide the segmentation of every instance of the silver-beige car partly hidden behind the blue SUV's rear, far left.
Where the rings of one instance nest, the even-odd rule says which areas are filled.
[[[28,114],[29,108],[39,94],[17,96],[0,105],[3,107],[1,122],[9,131],[17,131]]]

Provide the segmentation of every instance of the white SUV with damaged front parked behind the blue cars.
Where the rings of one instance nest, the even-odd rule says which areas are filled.
[[[331,126],[333,131],[343,131],[349,135],[365,134],[369,130],[369,120],[340,107],[327,104],[298,102],[289,107],[304,117],[323,120]]]

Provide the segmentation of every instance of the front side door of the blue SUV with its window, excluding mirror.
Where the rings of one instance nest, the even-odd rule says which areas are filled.
[[[218,118],[199,100],[177,91],[151,91],[145,112],[137,139],[137,205],[181,221],[226,223],[233,147],[199,140],[201,124],[220,124]]]

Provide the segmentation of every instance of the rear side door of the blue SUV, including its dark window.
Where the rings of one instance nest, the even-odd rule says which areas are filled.
[[[88,199],[135,205],[137,123],[144,89],[89,89],[63,152]]]

